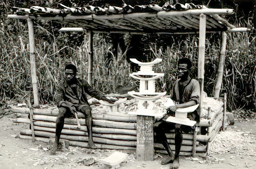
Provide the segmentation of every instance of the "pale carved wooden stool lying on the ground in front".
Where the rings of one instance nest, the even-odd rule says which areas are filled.
[[[110,156],[103,159],[96,159],[97,161],[103,163],[106,168],[115,169],[120,166],[121,162],[126,161],[128,154],[115,151]]]

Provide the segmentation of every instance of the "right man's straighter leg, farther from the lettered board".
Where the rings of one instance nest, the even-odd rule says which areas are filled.
[[[171,169],[179,168],[180,166],[179,154],[180,154],[182,140],[183,140],[182,129],[175,128],[175,157],[170,167]]]

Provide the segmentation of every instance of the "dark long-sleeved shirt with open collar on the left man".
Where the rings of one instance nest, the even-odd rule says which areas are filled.
[[[83,79],[77,79],[76,93],[77,94],[73,92],[72,88],[70,85],[68,85],[67,80],[65,79],[57,86],[54,96],[56,105],[60,107],[60,105],[65,101],[72,104],[89,104],[86,93],[97,99],[101,99],[103,96],[103,94],[93,89],[88,82]]]

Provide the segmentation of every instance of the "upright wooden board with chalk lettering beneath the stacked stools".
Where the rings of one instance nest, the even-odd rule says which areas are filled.
[[[153,161],[154,156],[154,116],[137,115],[137,148],[139,161]]]

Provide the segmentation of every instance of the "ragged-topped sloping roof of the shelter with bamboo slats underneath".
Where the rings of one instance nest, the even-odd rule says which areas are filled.
[[[59,9],[32,6],[13,7],[15,14],[9,18],[55,20],[68,27],[82,27],[86,30],[130,33],[189,33],[199,30],[199,17],[206,14],[206,31],[224,31],[235,28],[218,14],[232,14],[233,9],[212,9],[193,3],[176,3],[164,6],[126,5],[67,7],[59,4]]]

